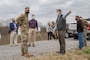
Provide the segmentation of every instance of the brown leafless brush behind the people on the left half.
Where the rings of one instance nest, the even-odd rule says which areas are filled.
[[[0,45],[6,45],[9,44],[10,42],[10,34],[8,33],[9,28],[6,27],[0,27],[0,33],[1,33],[1,40],[0,40]],[[40,32],[43,40],[47,40],[47,33],[46,33],[46,28],[45,27],[41,27],[41,32]],[[37,33],[37,37],[36,37],[36,41],[41,41],[41,37],[39,35],[39,33]],[[20,36],[18,38],[18,42],[21,42],[20,40]]]

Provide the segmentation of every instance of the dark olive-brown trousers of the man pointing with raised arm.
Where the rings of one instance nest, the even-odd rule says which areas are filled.
[[[58,38],[59,38],[59,44],[60,44],[60,53],[65,53],[65,33],[66,30],[58,31]]]

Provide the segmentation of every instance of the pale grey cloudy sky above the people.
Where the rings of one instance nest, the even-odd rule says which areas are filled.
[[[69,10],[72,14],[67,17],[67,22],[74,22],[74,16],[80,15],[84,18],[90,17],[90,0],[1,0],[0,19],[6,20],[12,17],[17,18],[24,13],[25,7],[30,7],[31,14],[42,24],[56,20],[56,9],[61,9],[63,14]]]

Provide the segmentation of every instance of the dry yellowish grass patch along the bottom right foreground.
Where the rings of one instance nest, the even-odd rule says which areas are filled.
[[[27,60],[90,60],[90,47],[85,47],[83,50],[71,49],[65,55],[54,52],[42,54]]]

